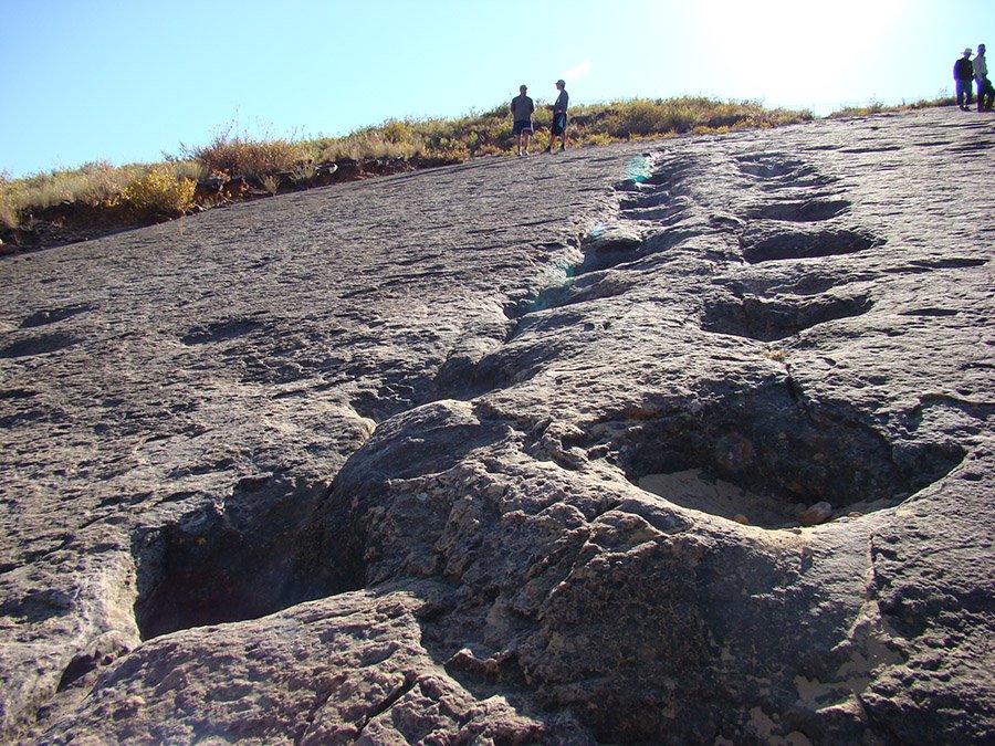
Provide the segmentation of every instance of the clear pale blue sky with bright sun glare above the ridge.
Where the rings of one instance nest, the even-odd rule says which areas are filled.
[[[985,39],[985,34],[989,39]],[[574,103],[810,108],[953,91],[993,0],[0,0],[0,172]],[[989,63],[989,64],[992,64]],[[966,116],[966,114],[965,114]]]

